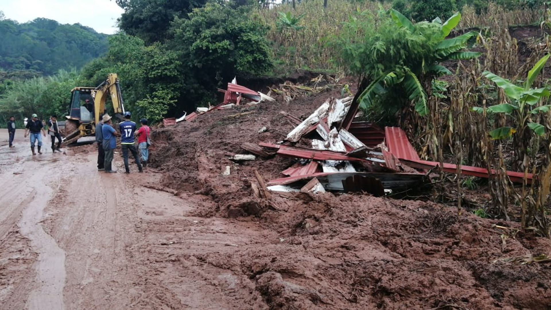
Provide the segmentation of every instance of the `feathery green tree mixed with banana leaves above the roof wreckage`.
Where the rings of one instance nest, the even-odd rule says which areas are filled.
[[[341,64],[363,77],[357,99],[360,108],[378,106],[395,114],[413,103],[417,113],[428,114],[427,92],[432,81],[451,73],[440,63],[480,55],[464,51],[475,33],[446,39],[460,19],[456,13],[445,23],[435,19],[413,24],[394,9],[351,18],[333,44],[342,47]]]

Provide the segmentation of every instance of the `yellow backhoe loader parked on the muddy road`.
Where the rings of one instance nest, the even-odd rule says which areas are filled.
[[[78,138],[95,134],[95,125],[106,113],[105,100],[111,97],[115,117],[123,119],[125,107],[121,97],[117,73],[109,73],[98,87],[75,87],[71,90],[71,106],[65,122],[65,145],[77,142]]]

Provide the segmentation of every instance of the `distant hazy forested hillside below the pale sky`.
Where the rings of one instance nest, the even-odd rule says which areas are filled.
[[[82,68],[107,51],[107,35],[80,24],[37,18],[18,23],[0,14],[0,82]],[[2,78],[3,77],[3,78]]]

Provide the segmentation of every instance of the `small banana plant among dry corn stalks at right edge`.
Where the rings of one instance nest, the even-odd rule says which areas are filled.
[[[513,117],[514,124],[516,126],[504,126],[490,131],[490,137],[494,140],[509,138],[514,135],[515,132],[520,131],[520,137],[523,136],[523,132],[528,127],[536,135],[543,136],[545,134],[545,127],[538,122],[532,121],[532,116],[539,113],[547,113],[551,110],[551,105],[537,104],[544,99],[547,99],[550,95],[548,88],[532,88],[532,84],[536,81],[538,74],[542,71],[545,63],[549,59],[549,54],[543,56],[528,72],[523,87],[511,83],[508,79],[497,76],[489,71],[484,71],[482,75],[488,78],[490,81],[498,85],[503,89],[505,95],[509,98],[509,102],[499,103],[489,106],[487,109],[490,113],[500,113],[510,115]],[[483,112],[484,108],[474,107],[474,111],[479,113]]]

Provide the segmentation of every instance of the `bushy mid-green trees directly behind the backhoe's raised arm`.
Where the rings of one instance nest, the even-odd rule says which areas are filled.
[[[107,55],[82,70],[83,85],[98,85],[110,72],[121,80],[125,108],[136,120],[161,120],[175,106],[183,89],[178,54],[165,45],[145,46],[136,36],[120,33],[109,38]]]

